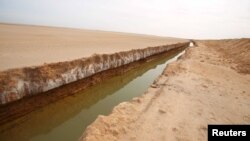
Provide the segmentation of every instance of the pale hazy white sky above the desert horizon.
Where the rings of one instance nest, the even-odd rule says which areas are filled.
[[[0,0],[0,22],[239,38],[250,37],[250,0]]]

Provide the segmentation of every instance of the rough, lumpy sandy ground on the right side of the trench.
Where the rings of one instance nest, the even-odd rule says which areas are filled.
[[[199,42],[80,140],[204,141],[207,124],[250,124],[249,49],[249,39]]]

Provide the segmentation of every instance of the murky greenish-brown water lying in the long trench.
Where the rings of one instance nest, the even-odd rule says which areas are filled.
[[[1,132],[0,140],[77,140],[98,115],[108,115],[119,103],[142,95],[165,66],[182,53],[179,50],[159,55],[129,72],[40,108]]]

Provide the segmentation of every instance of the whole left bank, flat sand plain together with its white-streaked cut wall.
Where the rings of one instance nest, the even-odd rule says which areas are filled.
[[[0,105],[188,42],[130,33],[0,24]]]

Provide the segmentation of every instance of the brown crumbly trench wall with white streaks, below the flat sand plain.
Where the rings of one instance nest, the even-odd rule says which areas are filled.
[[[189,46],[189,42],[183,42],[114,54],[95,54],[73,61],[6,70],[0,72],[0,104],[3,105],[25,96],[46,92],[104,70],[187,46]]]

